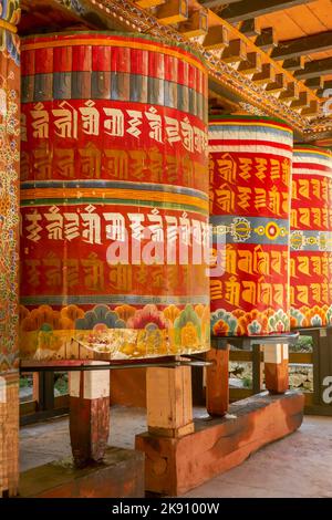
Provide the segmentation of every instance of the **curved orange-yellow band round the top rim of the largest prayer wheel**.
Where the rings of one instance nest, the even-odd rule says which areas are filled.
[[[116,46],[116,48],[132,48],[132,49],[139,49],[141,51],[151,51],[157,52],[158,54],[167,54],[173,58],[178,58],[187,63],[190,63],[196,69],[199,69],[200,72],[207,74],[207,69],[199,63],[198,60],[195,58],[190,58],[189,55],[183,54],[176,50],[167,49],[167,48],[158,48],[152,43],[144,43],[137,42],[135,40],[135,46],[131,46],[131,41],[116,41],[112,40],[112,38],[101,38],[101,39],[91,39],[91,40],[61,40],[61,41],[52,41],[52,42],[37,42],[37,43],[25,43],[22,44],[22,51],[33,51],[37,49],[51,49],[51,48],[60,48],[60,46],[76,46],[76,45],[89,45],[89,46],[96,46],[96,45],[105,45],[105,46]]]

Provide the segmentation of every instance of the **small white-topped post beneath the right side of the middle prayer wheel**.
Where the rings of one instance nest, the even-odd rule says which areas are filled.
[[[288,345],[267,344],[263,349],[266,387],[271,394],[283,394],[289,388]]]

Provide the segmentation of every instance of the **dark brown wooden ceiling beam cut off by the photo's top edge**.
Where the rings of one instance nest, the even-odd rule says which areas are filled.
[[[206,0],[201,1],[201,4],[217,11],[224,20],[232,23],[310,2],[312,0],[241,0],[235,3],[228,0]]]

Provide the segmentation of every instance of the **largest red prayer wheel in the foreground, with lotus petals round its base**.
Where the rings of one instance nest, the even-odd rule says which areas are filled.
[[[22,355],[208,350],[200,60],[139,35],[28,38],[22,91]]]

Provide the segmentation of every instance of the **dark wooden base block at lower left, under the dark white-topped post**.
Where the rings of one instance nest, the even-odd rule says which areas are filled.
[[[76,469],[71,458],[21,474],[24,498],[143,498],[144,455],[107,448],[103,462]]]

